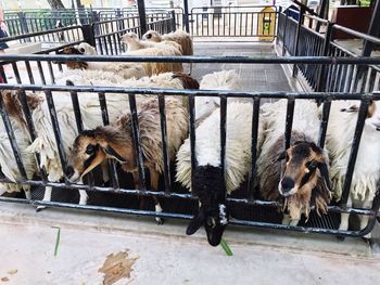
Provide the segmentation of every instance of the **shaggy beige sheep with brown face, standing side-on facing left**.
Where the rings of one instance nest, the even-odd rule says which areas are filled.
[[[167,98],[165,100],[166,126],[167,126],[167,150],[170,160],[174,159],[176,151],[188,133],[187,108],[178,99]],[[159,191],[159,178],[164,168],[160,109],[156,99],[142,102],[137,111],[139,122],[140,145],[144,159],[144,167],[150,171],[151,187]],[[136,163],[136,151],[134,145],[131,115],[122,116],[112,126],[98,127],[83,131],[74,142],[71,163],[68,166],[68,178],[72,182],[77,181],[88,171],[93,169],[105,158],[113,158],[121,163],[122,169],[131,172],[136,189],[139,185],[138,166]],[[155,211],[162,208],[156,197]],[[161,218],[156,218],[161,224]]]

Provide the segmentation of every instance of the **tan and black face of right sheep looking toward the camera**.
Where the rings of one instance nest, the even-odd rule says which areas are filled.
[[[286,158],[286,166],[278,190],[283,196],[312,191],[317,184],[317,169],[326,185],[331,190],[328,166],[324,151],[313,142],[295,142],[279,159]]]

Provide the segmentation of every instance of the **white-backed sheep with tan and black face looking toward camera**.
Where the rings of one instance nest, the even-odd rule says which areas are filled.
[[[308,100],[295,102],[291,145],[286,151],[287,100],[265,104],[262,111],[266,138],[257,159],[261,195],[283,202],[283,224],[296,225],[302,215],[308,218],[314,205],[318,215],[326,213],[331,182],[326,152],[316,145],[319,131],[317,104]]]

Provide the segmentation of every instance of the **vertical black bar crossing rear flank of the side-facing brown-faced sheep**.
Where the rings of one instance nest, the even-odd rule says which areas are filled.
[[[168,144],[167,144],[165,95],[164,94],[159,94],[159,106],[160,106],[160,121],[161,121],[162,154],[163,154],[163,161],[164,161],[165,192],[169,193],[172,190],[170,159],[168,157],[168,150],[167,150]]]

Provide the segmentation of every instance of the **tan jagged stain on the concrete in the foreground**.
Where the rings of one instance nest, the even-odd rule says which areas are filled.
[[[130,256],[129,250],[111,254],[99,272],[104,274],[103,285],[112,285],[122,278],[130,278],[132,265],[139,256]]]

